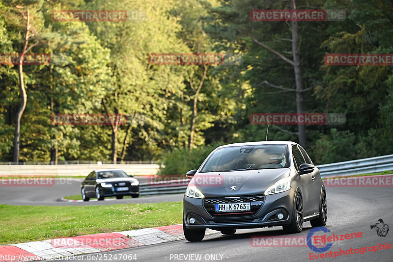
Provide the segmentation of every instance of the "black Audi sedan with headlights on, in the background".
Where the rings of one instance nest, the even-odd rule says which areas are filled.
[[[94,170],[82,182],[81,193],[84,201],[89,201],[91,197],[98,200],[110,196],[117,199],[123,196],[139,197],[139,181],[121,169]]]

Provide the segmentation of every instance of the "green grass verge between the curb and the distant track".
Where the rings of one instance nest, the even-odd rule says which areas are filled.
[[[0,205],[0,245],[180,224],[182,202],[84,207]]]

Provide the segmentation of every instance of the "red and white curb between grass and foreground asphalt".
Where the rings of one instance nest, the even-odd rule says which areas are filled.
[[[205,235],[215,233],[217,231],[207,229]],[[185,239],[181,224],[48,239],[0,246],[0,262],[59,259],[67,256],[152,245],[181,239]]]

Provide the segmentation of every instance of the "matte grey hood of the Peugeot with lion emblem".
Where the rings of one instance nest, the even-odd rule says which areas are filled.
[[[195,185],[205,197],[258,195],[281,178],[289,176],[289,170],[280,168],[197,173],[189,186]]]

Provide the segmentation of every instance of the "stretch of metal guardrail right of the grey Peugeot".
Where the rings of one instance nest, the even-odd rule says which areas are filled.
[[[322,177],[349,176],[393,170],[393,155],[317,165]]]

